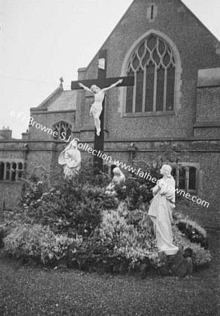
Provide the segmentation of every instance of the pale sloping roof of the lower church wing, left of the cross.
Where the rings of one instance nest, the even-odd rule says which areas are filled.
[[[59,111],[59,110],[76,110],[77,91],[63,90],[63,84],[61,83],[48,98],[46,98],[38,107],[32,107],[30,110],[47,110],[47,111]]]

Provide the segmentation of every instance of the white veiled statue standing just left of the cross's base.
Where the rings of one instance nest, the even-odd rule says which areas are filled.
[[[64,165],[63,173],[65,178],[75,176],[79,172],[80,162],[81,154],[77,150],[77,141],[72,140],[58,158],[58,164]]]

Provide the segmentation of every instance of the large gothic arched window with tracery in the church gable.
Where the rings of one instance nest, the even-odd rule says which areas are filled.
[[[135,83],[127,87],[126,113],[173,111],[175,70],[166,41],[153,34],[142,41],[127,67],[127,76],[134,76]]]

